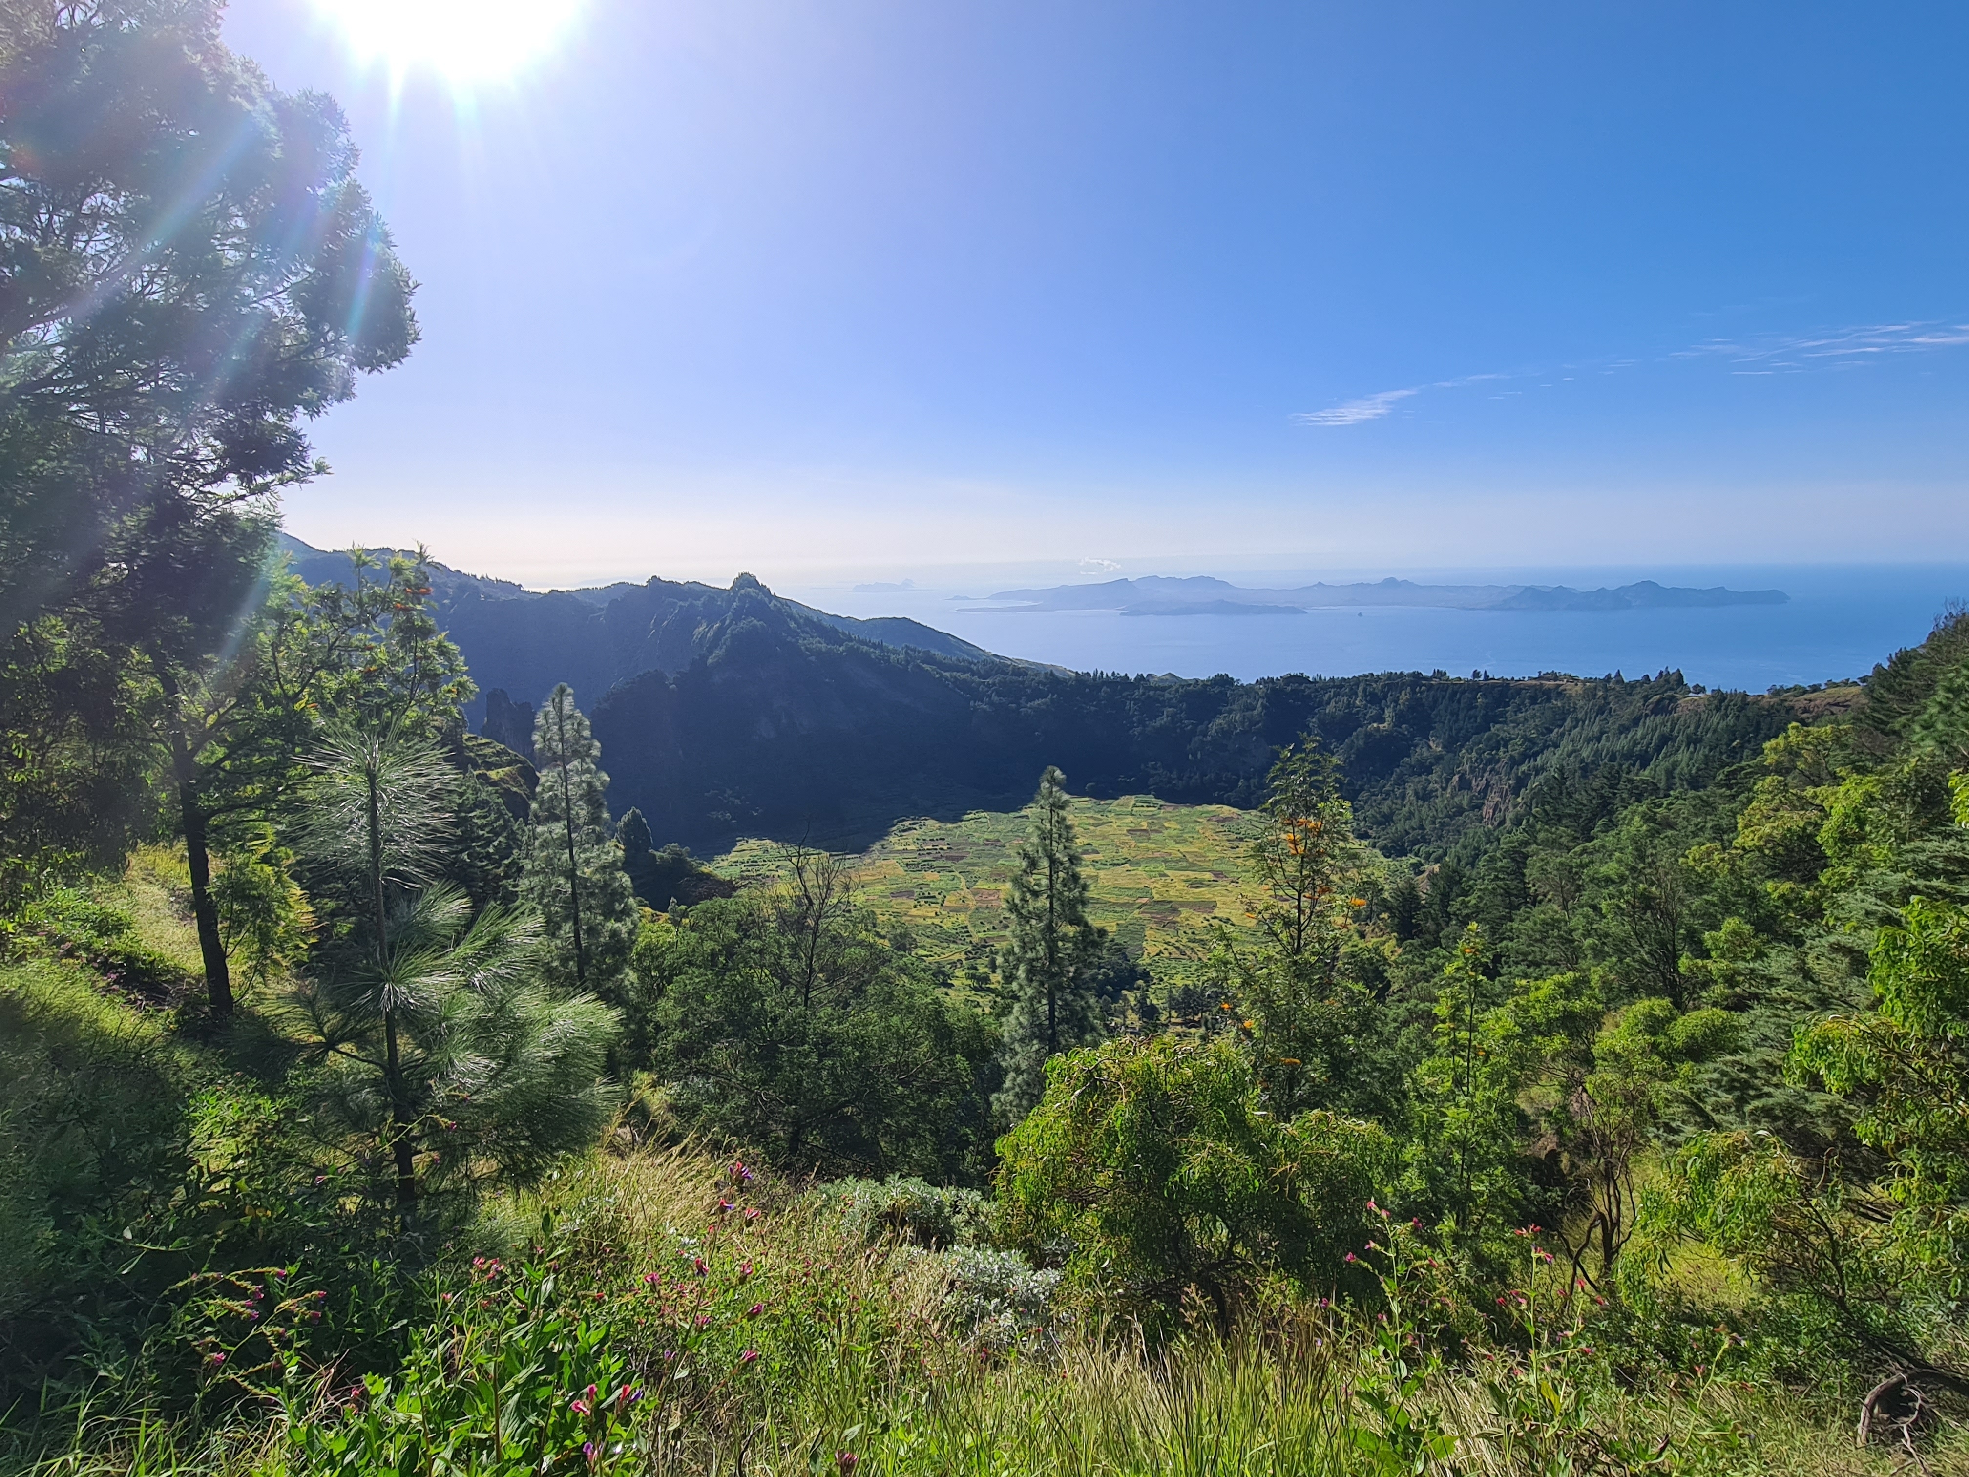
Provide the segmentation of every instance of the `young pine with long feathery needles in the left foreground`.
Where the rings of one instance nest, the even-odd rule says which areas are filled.
[[[437,740],[339,725],[315,762],[309,845],[368,900],[295,995],[329,1119],[382,1152],[406,1223],[433,1189],[538,1178],[606,1117],[610,1012],[543,987],[534,920],[427,886],[459,784]]]

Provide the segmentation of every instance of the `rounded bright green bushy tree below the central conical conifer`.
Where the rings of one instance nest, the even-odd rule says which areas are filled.
[[[1048,1063],[1040,1105],[998,1140],[1006,1233],[1069,1272],[1174,1312],[1191,1294],[1229,1327],[1268,1274],[1349,1280],[1388,1134],[1313,1111],[1268,1113],[1229,1040],[1114,1040]]]

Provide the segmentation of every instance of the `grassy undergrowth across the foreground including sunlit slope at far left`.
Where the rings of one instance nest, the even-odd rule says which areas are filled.
[[[146,1300],[144,1337],[124,1359],[93,1349],[35,1394],[16,1386],[28,1402],[6,1422],[8,1469],[1906,1465],[1886,1444],[1855,1449],[1863,1390],[1831,1367],[1798,1384],[1794,1329],[1752,1317],[1743,1288],[1719,1323],[1691,1304],[1601,1308],[1567,1298],[1524,1237],[1500,1314],[1366,1207],[1351,1306],[1258,1280],[1233,1327],[1197,1304],[1154,1333],[1093,1284],[992,1245],[1006,1227],[975,1193],[809,1188],[638,1142],[622,1121],[538,1193],[406,1258],[341,1195],[295,1184],[280,1105],[256,1087],[266,1042],[173,1040],[75,965],[16,965],[0,998],[8,1065],[43,1073],[24,1093],[10,1071],[10,1123],[53,1085],[89,1089],[89,1130],[118,1109],[122,1128],[175,1109],[191,1132],[185,1180],[154,1211],[175,1235],[140,1227],[114,1264],[71,1266],[65,1284],[87,1288],[96,1317]],[[35,1170],[45,1186],[47,1164]],[[352,1254],[364,1241],[402,1260]],[[1922,1432],[1920,1451],[1932,1471],[1969,1469],[1959,1432]]]

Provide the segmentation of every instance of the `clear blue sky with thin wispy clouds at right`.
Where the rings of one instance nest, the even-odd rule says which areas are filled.
[[[402,0],[412,8],[417,0]],[[313,0],[423,343],[317,544],[528,583],[1969,549],[1969,10],[585,0],[457,91]]]

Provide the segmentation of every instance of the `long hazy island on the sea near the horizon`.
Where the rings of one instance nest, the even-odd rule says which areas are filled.
[[[959,597],[969,599],[969,597]],[[1378,579],[1359,585],[1300,585],[1298,589],[1244,589],[1225,579],[1193,575],[1172,579],[1107,579],[1099,585],[1008,589],[986,597],[1000,605],[965,605],[965,612],[1016,614],[1022,610],[1118,610],[1156,614],[1305,614],[1315,609],[1433,607],[1443,610],[1687,610],[1721,605],[1784,605],[1782,589],[1682,589],[1640,579],[1617,589],[1579,591],[1569,585],[1418,585]]]

